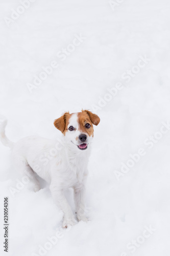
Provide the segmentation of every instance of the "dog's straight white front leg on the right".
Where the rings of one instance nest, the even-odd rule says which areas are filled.
[[[76,214],[79,221],[87,222],[85,217],[85,187],[84,184],[74,187],[74,198],[76,204]]]

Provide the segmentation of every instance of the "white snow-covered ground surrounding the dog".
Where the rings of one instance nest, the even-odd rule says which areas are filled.
[[[4,17],[21,4],[1,0],[0,114],[9,120],[11,140],[60,136],[53,120],[63,111],[93,110],[99,97],[109,99],[108,88],[122,83],[122,90],[94,111],[101,123],[95,127],[89,161],[91,221],[60,231],[56,245],[47,243],[47,237],[61,227],[62,213],[48,187],[34,193],[29,183],[13,197],[9,188],[23,177],[12,166],[9,148],[0,144],[1,253],[6,196],[10,222],[9,252],[4,255],[169,256],[170,132],[165,127],[159,131],[170,120],[170,2],[114,2],[115,8],[107,0],[37,0],[7,26]],[[68,46],[80,34],[86,37],[80,46]],[[66,47],[73,50],[62,61],[56,54]],[[140,62],[141,56],[148,63]],[[31,94],[27,84],[53,60],[59,67]],[[137,63],[144,67],[134,67]],[[132,70],[130,81],[124,79],[127,70]],[[129,161],[133,166],[129,171],[124,167],[124,174],[122,164],[139,148],[144,156]],[[117,180],[116,174],[124,176]],[[71,193],[67,198],[74,209]],[[154,231],[145,232],[146,226]]]

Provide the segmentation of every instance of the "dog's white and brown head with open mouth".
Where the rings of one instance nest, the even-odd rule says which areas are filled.
[[[54,125],[63,133],[68,143],[74,144],[78,150],[83,151],[88,148],[93,138],[93,124],[98,125],[99,122],[99,116],[88,110],[82,110],[78,113],[64,113],[54,121]]]

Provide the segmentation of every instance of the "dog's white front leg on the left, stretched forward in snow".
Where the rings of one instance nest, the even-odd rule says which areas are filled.
[[[50,186],[53,200],[62,209],[63,216],[63,228],[67,228],[69,225],[73,226],[76,224],[75,217],[71,211],[71,208],[63,194],[62,189],[57,189],[54,185]]]

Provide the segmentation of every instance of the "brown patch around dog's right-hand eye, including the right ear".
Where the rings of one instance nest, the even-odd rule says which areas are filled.
[[[98,125],[100,122],[100,118],[99,116],[93,114],[88,110],[82,110],[82,112],[78,113],[78,122],[79,122],[79,130],[93,137],[93,132],[94,132],[93,124]],[[86,127],[87,123],[90,124],[90,128]]]

